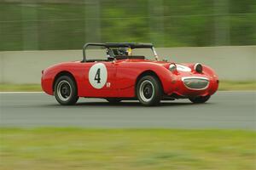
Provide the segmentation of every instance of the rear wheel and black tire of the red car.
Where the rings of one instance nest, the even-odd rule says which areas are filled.
[[[74,105],[79,99],[76,84],[68,76],[61,76],[56,80],[54,94],[61,105]]]

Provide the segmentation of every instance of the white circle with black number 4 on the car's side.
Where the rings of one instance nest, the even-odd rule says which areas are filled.
[[[108,79],[108,71],[106,65],[97,63],[90,67],[89,82],[93,88],[103,88]]]

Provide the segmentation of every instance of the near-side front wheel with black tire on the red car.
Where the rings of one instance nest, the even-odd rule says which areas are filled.
[[[143,105],[159,105],[162,99],[162,87],[157,77],[145,76],[137,82],[137,99]]]

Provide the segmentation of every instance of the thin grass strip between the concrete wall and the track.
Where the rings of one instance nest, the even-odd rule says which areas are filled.
[[[256,90],[256,82],[220,81],[218,90]],[[42,91],[39,84],[0,84],[0,92],[9,91]]]

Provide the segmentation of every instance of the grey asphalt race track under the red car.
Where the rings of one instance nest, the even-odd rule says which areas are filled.
[[[207,104],[188,99],[144,107],[137,101],[116,105],[104,99],[79,99],[58,105],[43,93],[0,94],[1,127],[163,127],[256,129],[256,92],[218,92]]]

